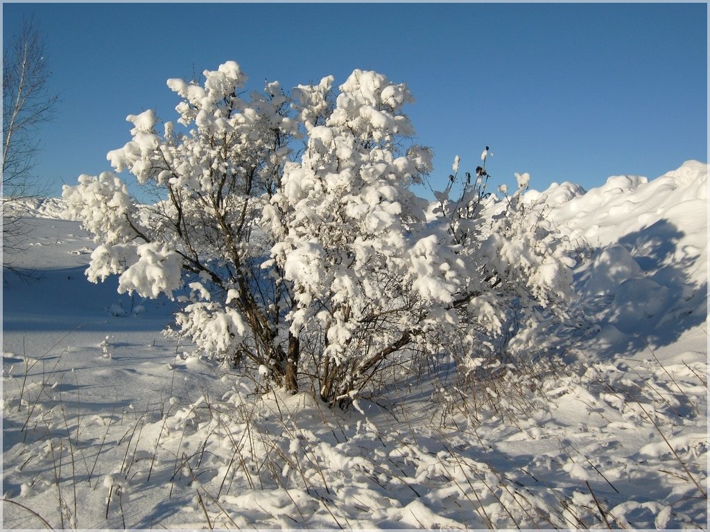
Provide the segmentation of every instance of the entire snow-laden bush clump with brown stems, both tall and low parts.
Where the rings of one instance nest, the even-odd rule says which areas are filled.
[[[510,336],[513,314],[520,331],[564,314],[572,262],[520,203],[526,175],[502,200],[482,167],[437,209],[415,196],[432,154],[409,140],[404,84],[361,70],[337,91],[332,77],[290,94],[245,82],[236,62],[203,85],[168,80],[181,101],[162,133],[153,111],[127,117],[131,140],[107,158],[154,204],[111,172],[65,187],[102,244],[89,279],[177,299],[175,333],[198,350],[331,403],[402,353],[470,358]]]

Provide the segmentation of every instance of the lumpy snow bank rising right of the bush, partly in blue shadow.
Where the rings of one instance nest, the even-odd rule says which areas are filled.
[[[609,353],[670,355],[680,336],[706,322],[706,164],[688,161],[652,180],[612,176],[589,192],[553,185],[525,201],[541,208],[541,196],[547,218],[591,255],[575,284]],[[706,347],[704,336],[695,341]]]

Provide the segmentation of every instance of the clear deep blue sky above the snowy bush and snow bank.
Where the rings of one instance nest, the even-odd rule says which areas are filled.
[[[3,4],[4,44],[34,13],[56,118],[36,172],[50,184],[110,170],[129,114],[174,120],[170,77],[236,60],[249,88],[352,70],[405,82],[417,142],[444,187],[455,155],[495,184],[613,174],[652,179],[707,162],[707,6],[701,4]],[[423,194],[423,192],[422,192]]]

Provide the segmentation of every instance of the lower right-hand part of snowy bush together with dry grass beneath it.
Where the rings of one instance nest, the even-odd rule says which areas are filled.
[[[430,324],[437,352],[457,367],[454,386],[440,398],[467,413],[484,403],[498,413],[526,404],[523,397],[511,402],[510,394],[527,394],[556,372],[553,348],[579,327],[572,289],[577,244],[547,219],[545,197],[522,201],[529,174],[515,174],[518,187],[510,195],[506,187],[501,196],[487,192],[487,156],[488,147],[484,166],[462,175],[456,157],[446,189],[435,192],[435,218],[427,227],[451,281],[449,301]]]

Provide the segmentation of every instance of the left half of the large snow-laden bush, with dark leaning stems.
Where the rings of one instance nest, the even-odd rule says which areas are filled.
[[[177,125],[166,122],[161,135],[153,111],[130,115],[131,141],[107,155],[162,201],[138,206],[110,172],[82,175],[64,196],[102,243],[89,279],[118,274],[119,292],[145,297],[176,297],[186,287],[179,331],[215,358],[249,358],[280,380],[290,294],[278,272],[261,268],[271,244],[259,221],[280,188],[297,124],[278,83],[244,98],[236,62],[204,77],[204,86],[168,80],[181,98]]]

